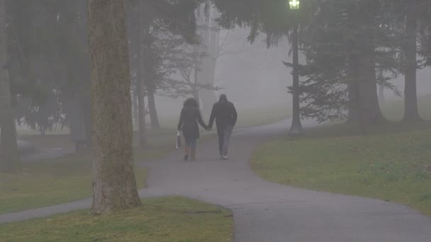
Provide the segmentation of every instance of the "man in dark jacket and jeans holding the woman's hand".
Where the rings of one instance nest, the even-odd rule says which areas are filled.
[[[220,96],[220,100],[213,106],[208,127],[211,129],[213,123],[217,125],[218,151],[222,159],[228,159],[228,147],[230,135],[237,122],[237,110],[233,103],[228,101],[225,94]]]

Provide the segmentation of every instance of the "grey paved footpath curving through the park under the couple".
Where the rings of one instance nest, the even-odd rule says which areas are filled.
[[[313,124],[308,124],[313,125]],[[142,197],[180,195],[232,209],[235,241],[244,242],[430,242],[431,218],[404,205],[313,192],[269,183],[250,170],[260,142],[286,134],[286,123],[235,132],[230,161],[220,161],[215,140],[199,144],[198,161],[140,163],[149,168]],[[85,209],[90,200],[0,215],[0,223]]]

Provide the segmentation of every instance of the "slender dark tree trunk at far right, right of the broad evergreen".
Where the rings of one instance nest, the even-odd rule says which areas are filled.
[[[418,94],[416,89],[416,54],[418,23],[416,1],[409,4],[405,23],[405,89],[404,89],[404,122],[420,120],[418,112]]]

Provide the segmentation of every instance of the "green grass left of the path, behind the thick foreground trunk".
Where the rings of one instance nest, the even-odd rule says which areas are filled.
[[[157,161],[175,149],[174,129],[148,129],[145,149],[135,148],[135,161]],[[138,136],[135,135],[135,144]],[[38,149],[73,148],[65,134],[23,135]],[[91,196],[91,154],[82,152],[58,159],[22,163],[16,173],[0,173],[0,214],[81,200]],[[139,188],[145,170],[135,168]]]

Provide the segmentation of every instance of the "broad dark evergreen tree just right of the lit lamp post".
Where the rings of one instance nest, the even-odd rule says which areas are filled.
[[[348,112],[348,121],[364,132],[385,120],[377,84],[394,88],[388,81],[398,67],[391,50],[396,43],[381,22],[378,1],[327,0],[317,9],[302,38],[302,113],[323,122]]]

